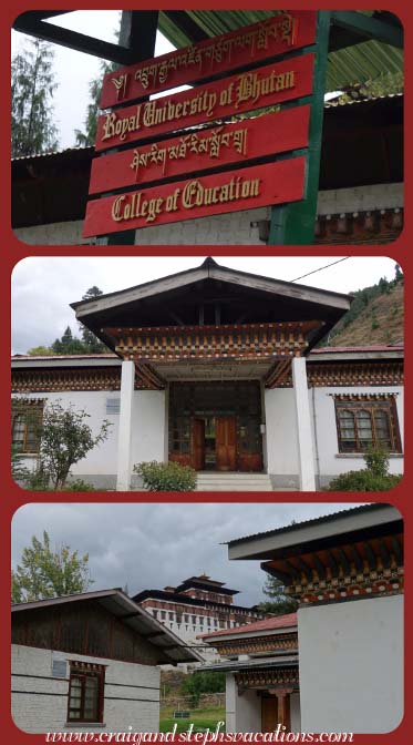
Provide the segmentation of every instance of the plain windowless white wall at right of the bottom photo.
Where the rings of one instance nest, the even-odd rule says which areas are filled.
[[[303,732],[392,732],[403,717],[403,596],[298,611]]]

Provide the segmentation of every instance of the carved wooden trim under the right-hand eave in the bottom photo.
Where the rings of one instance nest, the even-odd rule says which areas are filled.
[[[404,591],[403,534],[386,535],[261,564],[301,604],[334,603]]]

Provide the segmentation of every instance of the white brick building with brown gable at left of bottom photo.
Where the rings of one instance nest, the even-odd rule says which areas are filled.
[[[68,738],[158,732],[161,666],[202,661],[117,589],[14,604],[11,642],[16,726]]]

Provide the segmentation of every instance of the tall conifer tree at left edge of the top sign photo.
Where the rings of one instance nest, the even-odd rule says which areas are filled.
[[[40,39],[14,57],[11,63],[11,155],[37,155],[56,150],[58,130],[51,99],[56,89],[54,52]]]

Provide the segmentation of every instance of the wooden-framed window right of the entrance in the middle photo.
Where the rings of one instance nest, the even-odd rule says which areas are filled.
[[[401,452],[394,396],[340,396],[334,404],[339,452],[364,452],[370,446]]]

